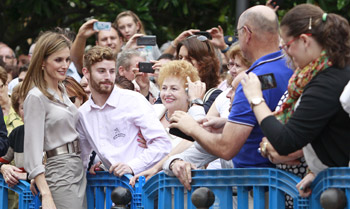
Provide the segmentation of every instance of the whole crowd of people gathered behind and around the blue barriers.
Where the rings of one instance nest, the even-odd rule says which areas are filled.
[[[193,169],[277,167],[309,196],[320,171],[350,166],[350,26],[312,4],[279,23],[270,2],[240,15],[237,39],[218,26],[143,46],[141,20],[125,11],[109,30],[91,19],[75,37],[43,32],[21,62],[1,43],[6,183],[31,182],[43,209],[79,209],[86,172],[132,174],[134,185],[164,170],[190,190]]]

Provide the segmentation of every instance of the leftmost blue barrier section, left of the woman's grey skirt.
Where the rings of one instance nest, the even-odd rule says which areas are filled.
[[[12,190],[18,194],[18,209],[36,209],[35,198],[30,191],[30,184],[26,181],[20,182],[14,186],[9,187],[2,174],[0,174],[0,209],[8,208],[8,190]]]

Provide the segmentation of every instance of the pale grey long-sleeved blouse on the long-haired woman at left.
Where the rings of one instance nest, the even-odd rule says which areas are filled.
[[[78,138],[76,123],[78,109],[69,100],[63,86],[63,101],[52,90],[54,100],[47,98],[37,87],[31,89],[24,100],[24,169],[33,179],[45,172],[43,152]]]

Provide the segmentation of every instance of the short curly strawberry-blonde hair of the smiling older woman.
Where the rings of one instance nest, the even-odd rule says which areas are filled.
[[[187,83],[187,77],[189,77],[192,82],[200,80],[198,70],[185,60],[174,60],[163,65],[160,68],[158,76],[159,86],[163,85],[165,78],[171,76],[182,79],[185,81],[184,83]],[[186,85],[184,88],[186,88]]]

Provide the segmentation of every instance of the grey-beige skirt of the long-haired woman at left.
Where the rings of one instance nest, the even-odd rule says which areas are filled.
[[[45,178],[57,209],[86,209],[86,176],[80,156],[63,154],[47,159]]]

